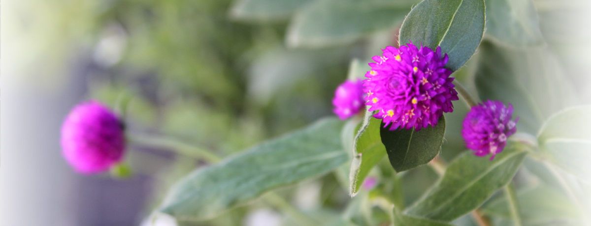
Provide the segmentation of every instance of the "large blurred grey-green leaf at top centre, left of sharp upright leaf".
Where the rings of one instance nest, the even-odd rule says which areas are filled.
[[[371,32],[394,28],[417,2],[319,0],[294,15],[287,45],[317,48],[348,44]]]

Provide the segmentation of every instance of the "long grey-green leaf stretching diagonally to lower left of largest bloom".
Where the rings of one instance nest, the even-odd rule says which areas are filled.
[[[342,126],[338,119],[323,119],[197,169],[171,188],[160,211],[177,220],[206,220],[271,189],[330,172],[348,160]]]

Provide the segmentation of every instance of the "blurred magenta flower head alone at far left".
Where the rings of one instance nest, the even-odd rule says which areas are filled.
[[[72,109],[61,127],[61,148],[64,158],[77,172],[106,171],[124,155],[123,124],[103,104],[81,103]]]

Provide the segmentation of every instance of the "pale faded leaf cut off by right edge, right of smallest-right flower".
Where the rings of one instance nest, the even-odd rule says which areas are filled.
[[[591,106],[557,113],[540,129],[538,142],[545,159],[564,171],[591,181]]]

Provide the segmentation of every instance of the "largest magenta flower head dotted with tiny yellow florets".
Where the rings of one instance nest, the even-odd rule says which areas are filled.
[[[447,54],[441,48],[417,48],[413,43],[400,48],[386,47],[382,56],[372,58],[371,71],[363,80],[369,110],[390,130],[399,127],[416,130],[436,126],[444,112],[453,112],[452,100],[458,100],[450,71],[443,66]]]

